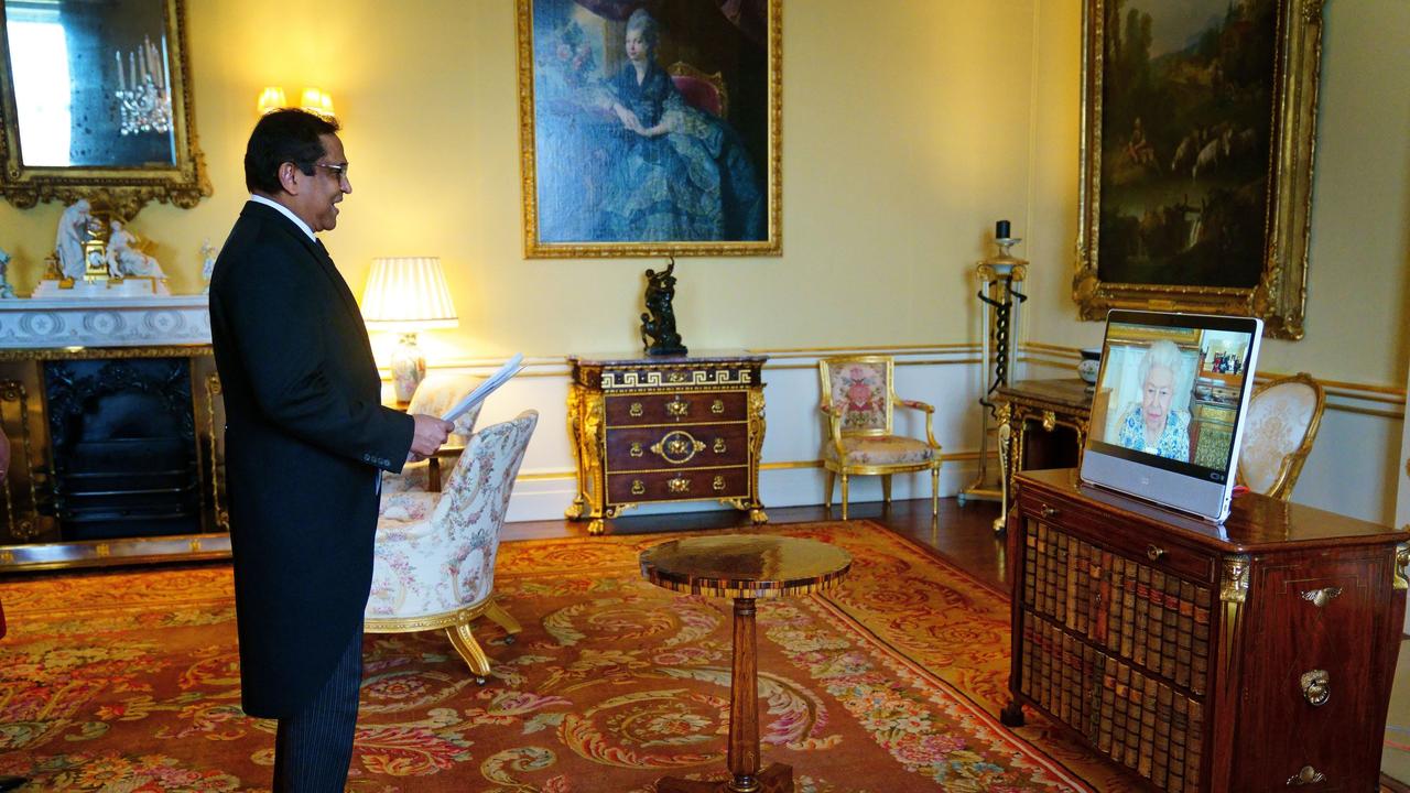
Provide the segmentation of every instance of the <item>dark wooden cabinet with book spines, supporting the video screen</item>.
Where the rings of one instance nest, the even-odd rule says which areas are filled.
[[[1012,704],[1162,790],[1379,790],[1410,543],[1256,494],[1203,523],[1018,476]]]

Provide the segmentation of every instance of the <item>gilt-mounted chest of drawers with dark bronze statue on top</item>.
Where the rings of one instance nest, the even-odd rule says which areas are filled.
[[[766,356],[568,356],[568,432],[578,494],[568,518],[602,521],[639,504],[718,500],[768,518],[759,502]]]

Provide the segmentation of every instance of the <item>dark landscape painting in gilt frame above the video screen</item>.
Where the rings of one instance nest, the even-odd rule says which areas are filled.
[[[1086,0],[1083,319],[1248,315],[1303,337],[1321,25],[1323,0]]]

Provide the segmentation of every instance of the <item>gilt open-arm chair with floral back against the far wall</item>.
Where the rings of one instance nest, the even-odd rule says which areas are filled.
[[[822,358],[821,411],[828,420],[822,442],[822,467],[828,471],[823,505],[832,508],[832,485],[842,476],[842,519],[847,519],[847,478],[880,476],[881,497],[891,502],[891,476],[931,471],[931,515],[939,514],[940,444],[935,442],[935,408],[901,399],[894,389],[894,360],[890,356]],[[891,432],[893,408],[925,413],[925,440]]]

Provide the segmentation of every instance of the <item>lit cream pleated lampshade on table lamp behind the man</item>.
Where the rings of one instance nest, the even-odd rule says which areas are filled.
[[[371,330],[430,330],[460,325],[440,257],[374,258],[362,289],[362,319]]]

